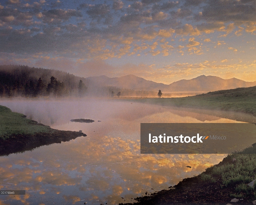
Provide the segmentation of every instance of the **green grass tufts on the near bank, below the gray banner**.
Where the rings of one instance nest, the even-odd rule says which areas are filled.
[[[221,180],[221,187],[230,187],[233,193],[231,197],[242,198],[253,195],[256,199],[256,183],[253,187],[247,184],[256,178],[256,154],[244,154],[247,150],[256,153],[256,146],[248,147],[243,151],[228,154],[223,161],[211,166],[199,176],[204,182]]]

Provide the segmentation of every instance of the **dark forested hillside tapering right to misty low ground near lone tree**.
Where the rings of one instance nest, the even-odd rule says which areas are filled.
[[[157,92],[95,85],[86,78],[24,65],[0,65],[0,97],[155,97]]]

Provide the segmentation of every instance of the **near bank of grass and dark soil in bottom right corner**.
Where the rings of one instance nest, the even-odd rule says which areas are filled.
[[[245,149],[256,153],[256,146]],[[137,197],[134,204],[252,204],[256,200],[256,154],[232,153],[198,176],[183,179],[174,187]],[[131,203],[127,203],[131,204]]]

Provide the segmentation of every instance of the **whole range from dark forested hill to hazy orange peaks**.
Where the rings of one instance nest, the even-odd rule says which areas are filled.
[[[256,81],[246,82],[237,78],[222,79],[205,75],[190,80],[179,80],[167,85],[132,74],[115,78],[107,76],[83,78],[53,69],[21,65],[0,65],[0,97],[26,96],[26,93],[29,93],[30,90],[32,92],[32,90],[36,89],[39,78],[41,78],[41,84],[44,84],[45,88],[50,83],[52,76],[54,79],[56,78],[56,82],[63,82],[62,90],[65,96],[72,97],[78,95],[80,80],[87,87],[85,95],[101,97],[116,96],[118,92],[122,93],[122,97],[156,97],[159,90],[163,92],[163,97],[181,97],[181,95],[196,95],[210,91],[256,85]]]

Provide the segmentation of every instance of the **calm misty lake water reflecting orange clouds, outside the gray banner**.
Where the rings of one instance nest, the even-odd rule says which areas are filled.
[[[140,154],[140,123],[238,122],[211,112],[202,114],[199,110],[118,100],[1,99],[0,105],[54,129],[82,130],[87,134],[69,142],[0,157],[0,189],[26,190],[26,195],[1,195],[1,205],[133,202],[131,198],[174,186],[225,157]],[[70,122],[78,118],[95,122]],[[242,118],[252,116],[243,114]]]

